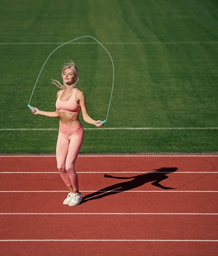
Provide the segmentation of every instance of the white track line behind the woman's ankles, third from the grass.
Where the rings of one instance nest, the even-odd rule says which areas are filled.
[[[17,191],[17,190],[3,190],[3,191],[0,191],[2,193],[54,193],[54,192],[69,192],[67,190],[30,190],[30,191],[27,191],[27,190],[20,190],[20,191]],[[104,192],[125,192],[125,193],[128,193],[128,192],[133,192],[133,193],[176,193],[176,192],[179,192],[179,193],[217,193],[218,191],[217,190],[196,190],[196,191],[189,191],[189,190],[127,190],[127,191],[123,191],[123,190],[99,190],[99,191],[96,191],[96,190],[80,190],[80,192],[96,192],[96,193],[104,193]]]

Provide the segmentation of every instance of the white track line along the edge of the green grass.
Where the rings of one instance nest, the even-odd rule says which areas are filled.
[[[0,157],[56,157],[56,155],[3,155]],[[79,154],[78,157],[218,157],[218,154],[96,154],[96,155],[82,155]]]

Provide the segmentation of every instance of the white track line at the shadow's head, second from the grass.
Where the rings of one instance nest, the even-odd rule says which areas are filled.
[[[38,173],[53,173],[53,174],[59,174],[59,172],[0,172],[0,174],[4,173],[26,173],[26,174],[38,174]],[[158,174],[158,173],[172,173],[172,174],[180,174],[180,173],[218,173],[218,172],[76,172],[76,173],[153,173],[153,174]]]

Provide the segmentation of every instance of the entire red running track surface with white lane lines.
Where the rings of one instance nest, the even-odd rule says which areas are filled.
[[[55,157],[0,160],[0,255],[217,255],[217,155],[79,156],[77,207]]]

